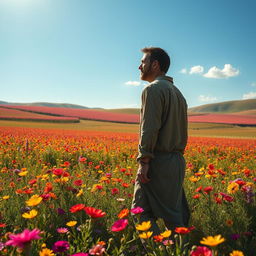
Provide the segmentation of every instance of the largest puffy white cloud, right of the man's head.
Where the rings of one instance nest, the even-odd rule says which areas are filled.
[[[223,69],[216,66],[211,67],[203,76],[207,78],[228,78],[239,75],[239,70],[233,68],[231,64],[225,64]]]

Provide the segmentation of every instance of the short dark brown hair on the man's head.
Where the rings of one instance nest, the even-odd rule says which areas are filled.
[[[149,53],[150,63],[152,63],[154,60],[157,60],[159,62],[160,70],[164,73],[167,73],[171,60],[165,50],[159,47],[145,47],[141,49],[141,51],[143,53]]]

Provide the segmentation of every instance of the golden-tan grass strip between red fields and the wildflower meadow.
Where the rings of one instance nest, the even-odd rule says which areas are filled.
[[[0,121],[0,126],[8,127],[31,127],[47,129],[67,129],[67,130],[89,130],[89,131],[109,131],[138,133],[138,124],[120,124],[111,122],[81,120],[80,123],[42,123],[42,122],[23,122],[23,121]],[[228,124],[211,123],[189,123],[189,136],[193,137],[242,137],[255,138],[256,127],[240,127]]]

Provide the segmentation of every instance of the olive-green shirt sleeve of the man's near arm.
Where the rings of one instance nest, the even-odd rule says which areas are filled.
[[[160,90],[151,86],[142,92],[140,142],[137,160],[143,157],[154,158],[154,148],[161,128],[163,103]]]

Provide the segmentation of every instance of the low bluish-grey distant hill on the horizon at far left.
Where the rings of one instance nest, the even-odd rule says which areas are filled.
[[[88,109],[88,107],[70,104],[70,103],[50,103],[50,102],[33,102],[33,103],[13,103],[0,101],[0,105],[10,105],[10,106],[39,106],[39,107],[58,107],[58,108],[79,108],[79,109]]]

